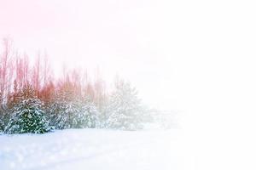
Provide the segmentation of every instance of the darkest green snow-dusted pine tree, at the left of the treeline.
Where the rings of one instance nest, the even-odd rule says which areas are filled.
[[[30,85],[20,92],[19,103],[13,108],[4,133],[46,133],[50,131],[49,122],[42,110],[43,103],[34,95]]]

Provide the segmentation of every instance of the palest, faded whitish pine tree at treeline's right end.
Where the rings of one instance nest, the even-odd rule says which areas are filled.
[[[128,82],[116,82],[106,114],[106,127],[124,130],[142,128],[143,106],[137,98],[137,90],[131,88]]]

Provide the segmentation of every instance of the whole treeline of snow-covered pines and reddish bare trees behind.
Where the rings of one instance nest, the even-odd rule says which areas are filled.
[[[9,39],[0,49],[0,131],[44,133],[53,129],[109,127],[142,128],[148,111],[128,82],[116,79],[111,92],[96,74],[63,70],[53,76],[49,59],[38,54],[31,62]]]

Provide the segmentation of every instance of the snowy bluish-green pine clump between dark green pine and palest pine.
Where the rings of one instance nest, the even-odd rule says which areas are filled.
[[[88,99],[67,99],[61,94],[51,105],[50,124],[57,129],[97,127],[98,111]]]

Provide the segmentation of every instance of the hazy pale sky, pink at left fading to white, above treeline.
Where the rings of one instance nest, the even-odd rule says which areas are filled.
[[[255,16],[253,1],[0,0],[0,37],[46,49],[56,72],[98,66],[151,105],[212,120],[255,101]]]

